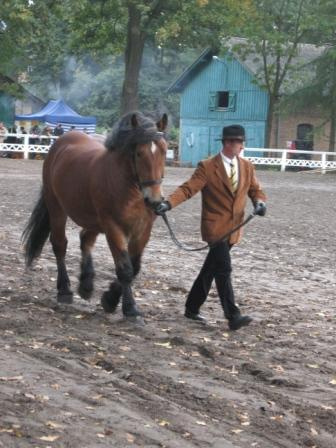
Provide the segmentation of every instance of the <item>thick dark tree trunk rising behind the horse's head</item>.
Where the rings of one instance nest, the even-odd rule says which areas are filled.
[[[141,29],[141,12],[133,2],[128,5],[125,78],[121,95],[121,113],[139,108],[138,84],[146,34]]]

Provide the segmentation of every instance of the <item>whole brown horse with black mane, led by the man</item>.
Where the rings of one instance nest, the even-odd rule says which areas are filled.
[[[51,147],[43,165],[40,198],[23,232],[23,241],[26,264],[30,266],[50,235],[58,270],[58,302],[71,303],[73,298],[65,265],[69,216],[82,228],[80,296],[89,299],[92,295],[91,249],[97,235],[104,233],[117,279],[104,292],[102,306],[112,313],[122,297],[124,316],[136,319],[140,315],[131,283],[140,270],[142,252],[156,217],[152,206],[162,200],[166,125],[166,114],[155,123],[134,112],[118,121],[105,146],[97,138],[73,131]]]

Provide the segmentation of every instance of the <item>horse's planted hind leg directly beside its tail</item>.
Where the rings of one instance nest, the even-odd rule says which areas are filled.
[[[59,206],[49,207],[50,214],[50,242],[57,263],[57,301],[71,303],[73,292],[70,289],[70,279],[65,265],[65,254],[68,240],[65,236],[67,216]]]

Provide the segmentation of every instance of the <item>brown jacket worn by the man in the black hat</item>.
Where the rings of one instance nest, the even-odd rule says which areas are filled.
[[[199,162],[191,178],[167,198],[171,206],[176,207],[201,191],[201,232],[204,241],[217,241],[244,220],[247,196],[252,201],[266,200],[252,163],[238,157],[238,166],[239,182],[235,194],[232,193],[222,156],[217,154]],[[239,229],[231,235],[230,244],[238,243],[241,237],[242,229]]]

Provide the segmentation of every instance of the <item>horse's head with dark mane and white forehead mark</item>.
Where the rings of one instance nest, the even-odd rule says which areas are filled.
[[[166,114],[155,123],[141,112],[129,113],[121,118],[105,143],[110,150],[121,149],[131,154],[135,181],[150,205],[162,200],[161,183],[167,153],[164,130],[167,122]]]

